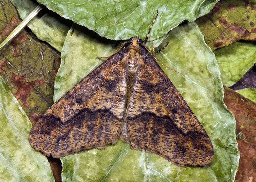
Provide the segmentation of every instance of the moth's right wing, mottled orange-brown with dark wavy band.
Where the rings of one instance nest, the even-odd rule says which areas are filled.
[[[132,148],[181,167],[208,164],[213,147],[204,128],[153,58],[144,62],[135,75],[126,116]]]

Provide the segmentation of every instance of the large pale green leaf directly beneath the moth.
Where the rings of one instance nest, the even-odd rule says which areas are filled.
[[[236,122],[223,103],[220,71],[197,25],[173,29],[169,45],[157,56],[171,69],[163,70],[180,91],[209,135],[214,158],[204,167],[178,167],[164,158],[118,141],[106,149],[90,149],[62,157],[63,181],[233,181],[238,167]],[[96,56],[109,55],[114,43],[74,25],[62,49],[56,78],[56,101],[100,64]]]

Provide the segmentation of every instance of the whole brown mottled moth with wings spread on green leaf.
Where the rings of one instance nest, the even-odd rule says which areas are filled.
[[[181,167],[211,162],[208,135],[150,56],[147,40],[148,35],[144,43],[131,38],[122,51],[54,103],[32,127],[31,146],[59,158],[103,149],[120,137],[132,149],[155,153]]]

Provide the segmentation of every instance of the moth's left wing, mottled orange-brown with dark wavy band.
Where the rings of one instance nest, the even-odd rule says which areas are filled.
[[[117,141],[126,98],[122,57],[111,56],[42,115],[29,134],[33,148],[59,158]]]

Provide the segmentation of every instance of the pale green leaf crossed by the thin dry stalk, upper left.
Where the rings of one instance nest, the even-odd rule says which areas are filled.
[[[33,0],[10,0],[17,8],[20,18],[24,19],[38,5]],[[60,15],[44,8],[28,23],[28,27],[36,34],[38,39],[48,42],[52,47],[61,51],[65,37],[70,29],[71,22]]]

